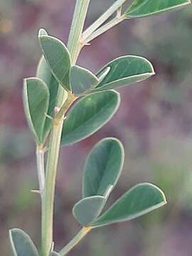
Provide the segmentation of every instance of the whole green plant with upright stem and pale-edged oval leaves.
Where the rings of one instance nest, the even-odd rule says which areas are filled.
[[[10,230],[14,255],[64,256],[91,230],[132,220],[164,206],[166,198],[158,187],[139,183],[103,210],[121,174],[124,148],[118,139],[102,139],[87,156],[82,198],[73,207],[73,215],[82,229],[60,252],[54,250],[53,205],[60,146],[80,142],[105,125],[118,110],[120,95],[116,90],[119,87],[155,74],[149,60],[134,55],[111,60],[93,74],[75,64],[80,50],[124,20],[161,14],[190,3],[189,0],[133,0],[131,3],[116,0],[83,31],[90,0],[77,0],[67,46],[40,29],[38,41],[42,56],[36,76],[24,80],[23,106],[36,142],[39,189],[35,192],[41,196],[41,249],[36,249],[23,230],[14,228]],[[46,165],[45,154],[48,154]]]

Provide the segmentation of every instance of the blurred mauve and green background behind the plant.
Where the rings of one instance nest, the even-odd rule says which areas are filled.
[[[87,24],[114,0],[92,0]],[[35,145],[22,107],[22,79],[41,55],[38,28],[67,42],[75,0],[0,1],[0,247],[12,255],[8,230],[23,228],[40,243],[41,208]],[[87,153],[117,137],[125,163],[110,203],[138,182],[162,188],[168,204],[137,220],[93,230],[70,255],[191,256],[192,252],[192,6],[125,21],[92,41],[78,63],[99,70],[120,55],[148,58],[156,75],[122,90],[114,118],[89,139],[61,150],[55,195],[56,250],[80,226],[71,210],[80,199]]]

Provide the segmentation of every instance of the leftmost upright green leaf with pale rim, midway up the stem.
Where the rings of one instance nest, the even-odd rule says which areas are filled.
[[[44,126],[48,112],[49,91],[43,80],[28,78],[23,85],[23,107],[28,126],[36,138],[37,144],[44,142]]]

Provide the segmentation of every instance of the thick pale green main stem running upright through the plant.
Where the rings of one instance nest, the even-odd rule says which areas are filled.
[[[70,51],[72,63],[75,64],[80,53],[80,37],[87,15],[87,9],[90,0],[77,0],[75,6],[75,13],[73,16],[73,23],[70,30],[68,41],[68,50]],[[60,88],[58,92],[58,104],[63,101],[64,91]],[[58,166],[58,156],[60,151],[60,139],[63,129],[63,117],[68,107],[75,100],[71,97],[71,92],[68,93],[67,104],[62,112],[53,119],[53,126],[50,134],[50,143],[48,151],[48,160],[46,166],[46,187],[42,196],[42,255],[48,256],[53,244],[53,208],[55,196],[55,178]]]

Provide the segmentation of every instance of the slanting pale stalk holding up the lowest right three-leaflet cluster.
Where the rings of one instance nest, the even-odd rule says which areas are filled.
[[[75,237],[70,240],[70,242],[68,243],[68,245],[66,245],[62,250],[60,250],[59,254],[60,256],[64,256],[66,255],[68,252],[70,252],[70,250],[73,249],[73,247],[75,247],[75,245],[78,244],[78,242],[80,242],[80,240],[82,240],[82,238],[85,237],[85,235],[87,235],[87,233],[89,233],[91,230],[91,227],[83,227],[80,232],[75,235]]]

